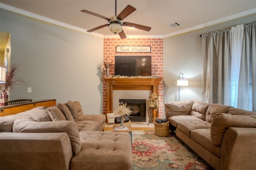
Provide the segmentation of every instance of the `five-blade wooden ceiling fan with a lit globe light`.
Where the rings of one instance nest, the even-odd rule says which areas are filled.
[[[142,29],[144,31],[150,31],[150,29],[151,29],[151,27],[148,27],[145,25],[140,25],[140,24],[131,23],[131,22],[122,22],[122,20],[124,20],[124,18],[126,18],[128,15],[132,14],[132,12],[134,12],[135,10],[136,10],[136,8],[134,8],[133,6],[127,5],[124,8],[124,10],[122,10],[122,12],[120,12],[120,14],[118,14],[118,16],[116,16],[116,7],[115,7],[115,16],[112,16],[110,18],[104,17],[104,16],[96,14],[94,12],[90,12],[88,10],[81,10],[81,12],[100,17],[109,22],[104,25],[100,25],[98,27],[89,29],[87,32],[96,31],[97,29],[108,26],[109,30],[112,33],[114,33],[114,34],[118,33],[120,38],[124,39],[124,38],[126,38],[126,35],[124,33],[124,30],[122,29],[122,26],[134,27],[137,29]]]

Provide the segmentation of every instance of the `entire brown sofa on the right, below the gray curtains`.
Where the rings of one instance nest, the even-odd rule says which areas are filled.
[[[216,170],[256,170],[256,112],[196,100],[165,104],[170,130]]]

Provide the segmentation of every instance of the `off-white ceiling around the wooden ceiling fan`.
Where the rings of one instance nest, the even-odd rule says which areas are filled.
[[[88,30],[115,14],[115,0],[0,0],[1,3]],[[3,6],[2,4],[2,6]],[[127,5],[137,10],[124,21],[152,27],[148,31],[123,26],[126,35],[173,35],[256,13],[256,0],[117,0],[117,14]],[[1,5],[1,4],[0,4]],[[178,22],[178,27],[168,26]],[[95,31],[113,35],[104,27]]]

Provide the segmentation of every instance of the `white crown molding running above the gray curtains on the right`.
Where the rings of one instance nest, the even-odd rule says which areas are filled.
[[[253,8],[252,10],[240,12],[240,13],[234,14],[234,15],[232,15],[232,16],[228,16],[228,17],[225,17],[225,18],[220,18],[220,19],[218,19],[218,20],[210,21],[210,22],[207,22],[207,23],[204,23],[204,24],[201,24],[201,25],[197,25],[197,26],[194,26],[194,27],[190,27],[190,28],[188,28],[188,29],[182,29],[182,30],[176,31],[176,32],[174,32],[174,33],[169,33],[169,34],[163,35],[163,37],[164,37],[164,38],[172,37],[172,36],[174,36],[174,35],[186,33],[186,32],[189,32],[189,31],[194,31],[194,30],[196,30],[196,29],[202,29],[202,28],[205,28],[205,27],[209,27],[209,26],[212,26],[212,25],[216,25],[216,24],[218,24],[218,23],[222,23],[222,22],[234,20],[234,19],[236,19],[236,18],[248,16],[248,15],[251,15],[251,14],[256,14],[255,11],[256,11],[256,8]]]

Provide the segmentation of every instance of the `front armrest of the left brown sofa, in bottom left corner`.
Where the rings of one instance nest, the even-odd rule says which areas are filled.
[[[0,133],[1,170],[68,170],[72,156],[67,133]]]

